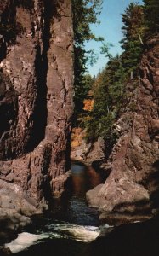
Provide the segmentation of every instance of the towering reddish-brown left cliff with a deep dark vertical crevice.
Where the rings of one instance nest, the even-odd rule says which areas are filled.
[[[0,19],[0,189],[23,190],[36,212],[69,177],[71,1],[3,0]]]

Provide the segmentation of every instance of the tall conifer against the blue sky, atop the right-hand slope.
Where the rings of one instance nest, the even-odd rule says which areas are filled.
[[[125,72],[133,73],[133,78],[137,76],[139,59],[144,50],[144,12],[143,7],[137,3],[130,3],[125,13],[122,15],[122,65]]]

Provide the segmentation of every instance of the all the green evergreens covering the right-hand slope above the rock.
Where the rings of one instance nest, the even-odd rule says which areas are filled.
[[[103,137],[107,156],[118,136],[114,124],[127,106],[128,97],[132,96],[132,92],[126,90],[126,84],[129,82],[135,92],[146,39],[156,35],[159,29],[159,1],[144,2],[145,6],[130,3],[125,10],[122,15],[122,55],[113,58],[109,55],[109,45],[104,44],[102,51],[110,61],[93,84],[94,108],[86,122],[87,140],[90,142]],[[136,111],[135,99],[129,102],[128,107],[130,111]],[[132,122],[131,119],[125,121]]]

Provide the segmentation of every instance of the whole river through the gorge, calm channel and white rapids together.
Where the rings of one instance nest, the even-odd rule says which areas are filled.
[[[72,162],[71,180],[71,197],[54,203],[51,218],[35,218],[30,227],[9,243],[14,255],[82,255],[89,242],[99,236],[99,212],[87,206],[85,194],[102,179],[92,167]]]

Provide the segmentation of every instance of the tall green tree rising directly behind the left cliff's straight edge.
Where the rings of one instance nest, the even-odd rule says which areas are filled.
[[[102,40],[96,38],[90,25],[99,22],[98,16],[102,7],[102,0],[72,0],[73,28],[74,28],[74,75],[75,75],[75,113],[74,125],[77,123],[79,113],[82,113],[83,100],[88,94],[85,74],[87,71],[88,52],[84,43],[89,40]],[[91,51],[89,54],[93,54]]]

